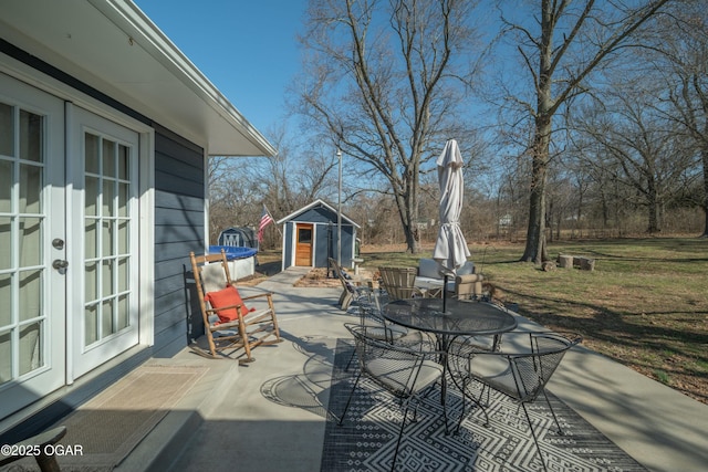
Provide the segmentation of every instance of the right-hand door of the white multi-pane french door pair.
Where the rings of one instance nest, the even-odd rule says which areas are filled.
[[[138,134],[71,107],[72,279],[67,333],[76,378],[138,343]]]

